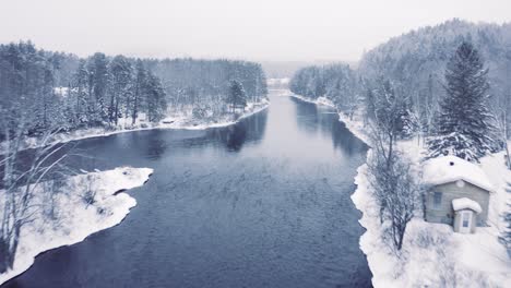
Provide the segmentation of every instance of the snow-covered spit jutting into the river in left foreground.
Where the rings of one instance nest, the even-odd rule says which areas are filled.
[[[25,272],[39,253],[81,242],[92,233],[118,225],[136,205],[133,197],[119,191],[142,185],[152,172],[150,168],[119,167],[67,179],[54,194],[52,215],[47,208],[37,209],[33,221],[22,227],[14,268],[0,274],[0,285]],[[48,206],[41,204],[51,201],[50,193],[43,189],[45,184],[49,182],[41,183],[35,191],[34,206]],[[96,193],[92,204],[84,200],[87,191]],[[3,197],[0,197],[3,206],[1,201]]]

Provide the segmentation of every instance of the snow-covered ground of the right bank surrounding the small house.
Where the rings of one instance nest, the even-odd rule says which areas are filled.
[[[293,96],[331,106],[331,101],[322,98],[310,100]],[[340,121],[370,145],[368,129],[358,113],[349,119],[341,112]],[[402,141],[399,148],[419,165],[424,147],[416,140]],[[371,151],[368,157],[371,157]],[[454,233],[451,226],[426,223],[418,215],[408,224],[403,249],[399,253],[390,241],[383,240],[383,227],[370,191],[367,165],[358,168],[355,178],[357,189],[352,200],[363,212],[359,223],[367,231],[360,237],[360,249],[367,255],[375,287],[511,287],[511,261],[499,242],[500,231],[504,229],[502,213],[507,203],[511,203],[511,193],[506,191],[511,183],[511,171],[504,165],[503,153],[483,158],[480,167],[496,189],[490,197],[489,227],[478,227],[474,235]]]

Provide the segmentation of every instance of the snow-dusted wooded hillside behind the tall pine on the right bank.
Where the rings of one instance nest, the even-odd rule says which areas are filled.
[[[510,115],[511,24],[453,20],[413,31],[368,51],[357,70],[345,64],[304,68],[295,73],[290,89],[310,98],[325,96],[346,113],[363,112],[365,120],[375,118],[384,98],[397,97],[407,122],[403,134],[427,136],[445,96],[447,63],[463,41],[474,45],[489,70],[490,106]]]

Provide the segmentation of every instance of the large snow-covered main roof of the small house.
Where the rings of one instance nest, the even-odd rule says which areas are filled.
[[[423,180],[433,185],[463,180],[484,190],[494,191],[494,185],[479,166],[452,155],[427,160],[424,164]]]

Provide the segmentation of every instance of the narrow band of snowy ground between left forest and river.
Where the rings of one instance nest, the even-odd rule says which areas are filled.
[[[239,120],[249,117],[253,113],[260,112],[270,106],[270,101],[263,99],[261,103],[248,103],[245,111],[239,118],[233,120],[231,117],[225,119],[209,119],[209,120],[197,120],[191,113],[181,113],[167,117],[158,123],[147,123],[138,120],[134,125],[131,124],[131,119],[119,119],[119,123],[115,129],[106,128],[90,128],[82,129],[71,132],[58,133],[54,136],[51,143],[66,143],[70,141],[76,141],[90,137],[108,136],[118,133],[151,130],[151,129],[183,129],[183,130],[203,130],[209,128],[227,127],[235,124]],[[0,151],[4,149],[5,143],[0,143]],[[23,143],[23,148],[35,148],[40,145],[40,140],[37,137],[28,137]]]

